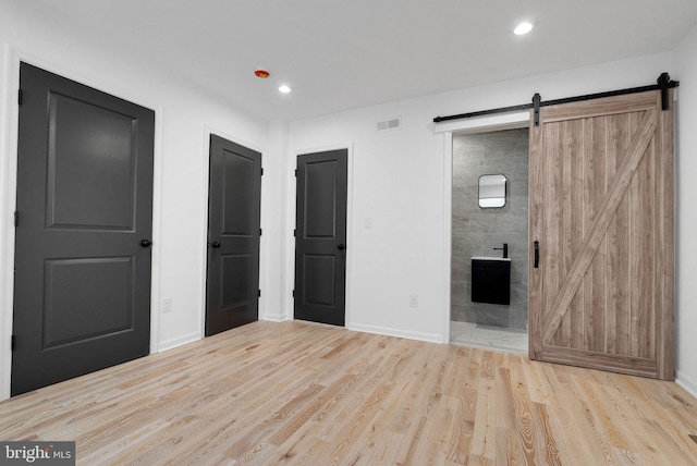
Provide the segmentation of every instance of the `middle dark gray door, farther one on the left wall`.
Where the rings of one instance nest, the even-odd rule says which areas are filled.
[[[206,335],[258,319],[261,154],[210,136]]]

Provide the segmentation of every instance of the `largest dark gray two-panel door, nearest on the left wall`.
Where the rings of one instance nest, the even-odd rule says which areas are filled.
[[[155,113],[22,63],[12,394],[149,353]]]

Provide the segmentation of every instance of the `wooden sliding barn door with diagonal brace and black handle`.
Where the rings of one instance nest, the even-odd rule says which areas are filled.
[[[530,124],[531,359],[674,378],[673,110],[660,94],[543,107]]]

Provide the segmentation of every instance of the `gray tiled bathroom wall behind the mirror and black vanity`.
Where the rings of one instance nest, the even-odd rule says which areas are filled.
[[[527,328],[528,128],[453,135],[451,320],[513,329]],[[481,209],[482,174],[508,179],[503,208]],[[511,257],[511,305],[472,302],[473,256]]]

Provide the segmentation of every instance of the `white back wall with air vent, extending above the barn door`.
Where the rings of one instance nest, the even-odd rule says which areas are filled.
[[[686,49],[695,50],[695,45]],[[697,73],[697,63],[693,63],[693,73]],[[347,240],[348,248],[352,248],[353,286],[348,290],[347,327],[428,341],[449,340],[448,186],[451,169],[447,145],[450,143],[448,134],[435,128],[433,116],[527,103],[535,93],[540,93],[543,100],[551,100],[645,86],[655,84],[664,71],[673,78],[680,78],[675,53],[292,122],[288,151],[290,168],[298,151],[353,143],[354,224]],[[692,107],[693,115],[697,116],[697,102]],[[402,128],[378,133],[376,122],[392,116],[402,118]],[[685,126],[685,122],[682,123]],[[697,147],[696,142],[692,145]],[[694,168],[697,169],[697,164]],[[288,198],[293,196],[293,186],[289,185]],[[294,206],[289,209],[293,217]],[[684,209],[678,211],[678,218],[683,217]],[[364,228],[366,218],[372,219],[372,229]],[[292,254],[292,237],[286,233],[286,256]],[[683,252],[680,255],[685,257]],[[697,253],[690,257],[697,257]],[[686,266],[685,260],[681,263]],[[286,274],[292,274],[290,267]],[[412,294],[418,295],[417,308],[409,307]],[[678,317],[687,319],[682,314]],[[695,329],[694,317],[692,319]],[[681,340],[684,341],[687,330],[682,332]],[[684,370],[687,365],[697,364],[694,356],[697,352],[683,352],[682,348],[680,368]]]

